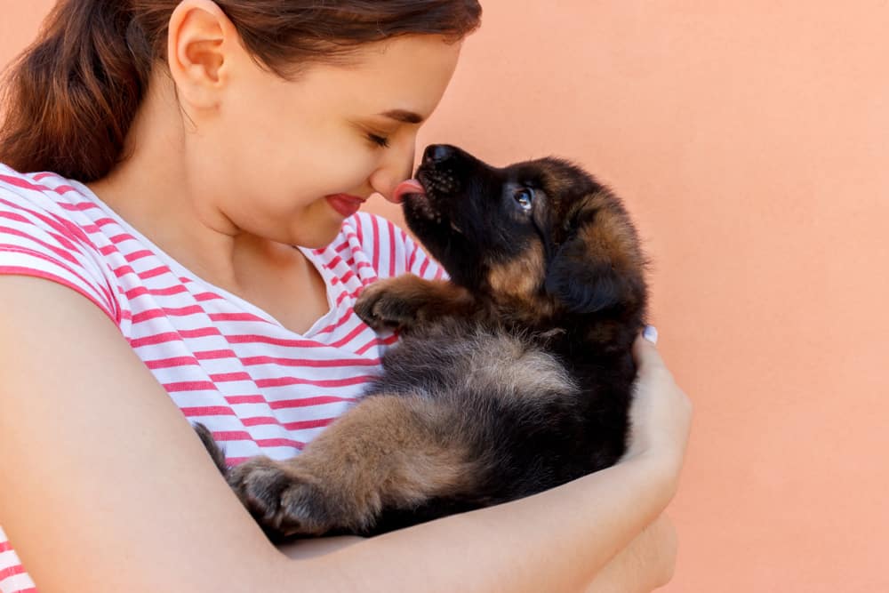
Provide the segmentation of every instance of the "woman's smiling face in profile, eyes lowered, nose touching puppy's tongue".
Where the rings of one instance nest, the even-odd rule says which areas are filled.
[[[212,117],[192,128],[202,199],[241,231],[321,247],[379,192],[410,177],[416,134],[453,75],[460,44],[404,36],[354,65],[286,81],[252,62],[230,71]]]

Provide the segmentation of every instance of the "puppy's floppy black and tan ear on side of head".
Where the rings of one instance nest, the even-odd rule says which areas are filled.
[[[581,227],[549,262],[547,292],[578,314],[643,306],[644,263],[629,220],[596,212],[581,218]]]

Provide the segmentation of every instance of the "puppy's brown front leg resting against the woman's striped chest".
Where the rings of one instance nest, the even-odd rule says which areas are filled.
[[[476,307],[476,300],[462,286],[404,274],[365,286],[355,312],[373,329],[409,330],[441,317],[467,317]]]

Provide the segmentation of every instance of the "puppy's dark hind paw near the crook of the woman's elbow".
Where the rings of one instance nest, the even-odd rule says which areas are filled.
[[[230,469],[228,484],[273,535],[320,535],[335,526],[318,480],[293,460],[255,457]]]

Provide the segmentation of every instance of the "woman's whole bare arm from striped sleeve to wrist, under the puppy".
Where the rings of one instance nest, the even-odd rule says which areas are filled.
[[[0,277],[0,293],[0,525],[44,593],[580,590],[675,488],[677,464],[643,450],[547,493],[293,561],[99,309],[27,277]]]

